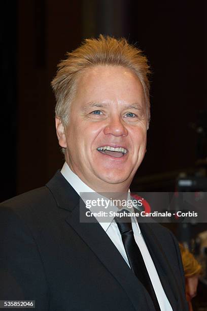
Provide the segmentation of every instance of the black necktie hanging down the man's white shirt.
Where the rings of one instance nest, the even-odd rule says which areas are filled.
[[[157,311],[160,311],[159,303],[157,301],[157,297],[152,286],[152,282],[150,280],[147,268],[145,266],[145,262],[143,260],[140,248],[138,247],[134,239],[131,225],[131,217],[124,217],[124,221],[127,221],[124,223],[122,223],[123,218],[120,220],[118,217],[115,217],[115,221],[121,233],[121,238],[124,244],[131,270],[134,272],[136,277],[139,278],[140,282],[142,282],[142,284],[150,294],[155,309]]]

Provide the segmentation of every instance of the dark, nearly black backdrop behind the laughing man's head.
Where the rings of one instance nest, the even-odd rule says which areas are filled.
[[[13,0],[1,4],[0,23],[0,201],[63,165],[50,82],[66,51],[100,33],[136,43],[152,68],[147,153],[130,189],[174,191],[182,172],[206,176],[197,133],[199,111],[207,125],[206,1]]]

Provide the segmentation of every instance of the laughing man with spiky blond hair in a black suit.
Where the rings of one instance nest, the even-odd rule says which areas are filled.
[[[122,230],[117,217],[80,221],[80,193],[127,193],[142,163],[148,73],[139,49],[103,36],[60,63],[52,86],[65,164],[0,208],[0,299],[36,300],[37,310],[187,310],[169,231],[136,220]]]

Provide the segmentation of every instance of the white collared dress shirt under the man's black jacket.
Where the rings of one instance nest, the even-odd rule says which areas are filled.
[[[72,185],[74,190],[78,193],[80,196],[80,193],[89,193],[92,192],[94,193],[94,190],[89,188],[87,184],[85,184],[67,165],[65,162],[62,169],[61,169],[61,174],[64,176],[64,178]],[[130,194],[130,192],[129,192]],[[103,207],[102,207],[103,208]],[[100,207],[101,209],[101,207]],[[103,208],[104,209],[104,208]],[[113,211],[118,211],[118,207],[114,206],[112,207]],[[93,208],[90,208],[90,211],[93,212]],[[109,217],[107,218],[107,222],[101,222],[100,217],[96,217],[96,220],[102,227],[102,229],[108,234],[114,245],[117,247],[118,251],[126,261],[126,263],[129,265],[126,252],[124,249],[124,245],[122,242],[121,234],[119,232],[118,226],[114,220],[114,217]],[[155,294],[157,296],[157,300],[160,306],[161,311],[172,311],[171,305],[165,295],[165,292],[162,288],[162,285],[160,283],[159,276],[157,274],[155,265],[152,261],[152,258],[150,256],[150,253],[148,251],[147,245],[145,243],[145,240],[142,236],[142,233],[140,231],[139,224],[137,223],[136,217],[132,217],[132,229],[134,233],[134,239],[136,241],[136,244],[139,246],[140,251],[142,253],[147,271],[149,273]]]

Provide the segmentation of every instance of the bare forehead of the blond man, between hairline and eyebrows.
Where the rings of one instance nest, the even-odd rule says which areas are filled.
[[[130,69],[122,66],[95,66],[79,74],[75,101],[144,102],[143,86]]]

